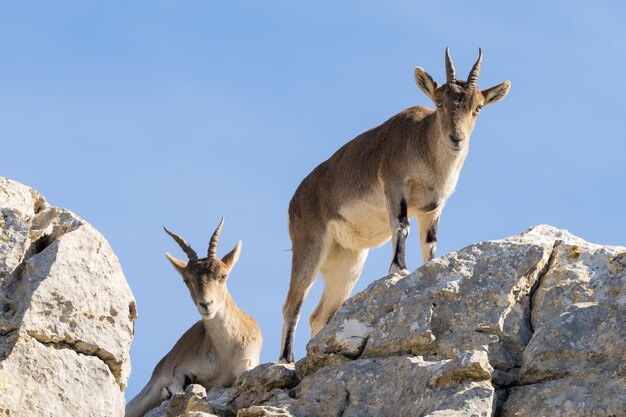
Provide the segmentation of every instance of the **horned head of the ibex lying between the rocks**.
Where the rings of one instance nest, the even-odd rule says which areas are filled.
[[[176,259],[169,253],[165,254],[178,273],[182,275],[191,293],[191,298],[198,308],[198,312],[205,320],[214,318],[224,307],[226,294],[228,293],[226,280],[241,253],[241,241],[239,241],[235,248],[222,259],[217,257],[217,241],[220,237],[223,224],[224,218],[222,218],[217,229],[213,232],[211,242],[209,243],[209,250],[207,251],[207,257],[201,259],[198,259],[198,255],[185,239],[170,232],[165,229],[165,227],[163,228],[165,232],[178,243],[189,258],[189,262],[185,262]]]

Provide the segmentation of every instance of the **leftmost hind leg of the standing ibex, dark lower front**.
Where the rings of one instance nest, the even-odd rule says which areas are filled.
[[[279,362],[293,362],[293,341],[302,303],[307,296],[324,252],[321,238],[292,238],[291,282],[283,306],[283,335]]]

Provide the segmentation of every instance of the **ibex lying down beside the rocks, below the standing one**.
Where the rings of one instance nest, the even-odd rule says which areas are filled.
[[[189,384],[206,389],[232,385],[259,364],[262,337],[256,321],[233,301],[226,280],[237,263],[241,241],[221,260],[217,241],[224,219],[211,237],[208,256],[196,252],[180,236],[165,229],[189,258],[167,258],[182,275],[202,320],[194,324],[158,363],[148,384],[126,406],[126,417],[140,417]]]

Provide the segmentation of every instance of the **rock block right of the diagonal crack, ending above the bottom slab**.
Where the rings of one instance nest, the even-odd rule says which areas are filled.
[[[625,318],[626,248],[559,243],[533,298],[522,383],[620,369]]]

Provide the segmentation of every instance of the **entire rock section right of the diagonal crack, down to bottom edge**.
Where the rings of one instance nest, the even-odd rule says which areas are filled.
[[[625,415],[625,317],[626,248],[558,242],[533,297],[525,386],[503,415]]]

